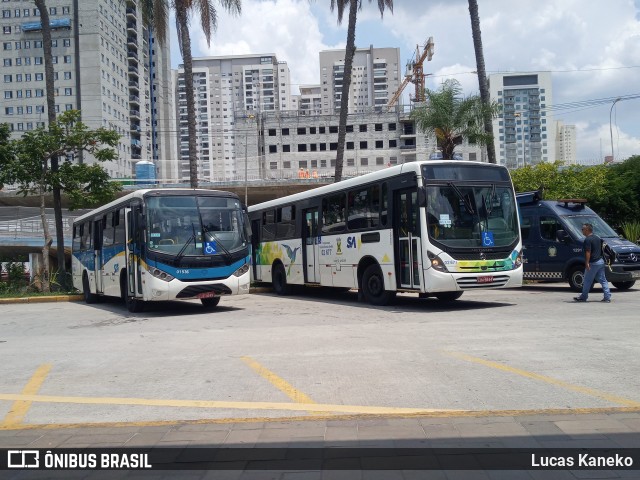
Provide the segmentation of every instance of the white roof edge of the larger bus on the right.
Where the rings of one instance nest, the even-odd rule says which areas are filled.
[[[395,177],[396,175],[400,175],[403,173],[415,172],[416,174],[419,174],[423,165],[448,165],[448,164],[457,165],[457,166],[471,165],[471,166],[483,166],[483,167],[489,167],[489,168],[505,168],[501,165],[495,165],[492,163],[469,162],[469,161],[461,161],[461,160],[439,160],[439,161],[426,160],[426,161],[403,163],[401,165],[396,165],[394,167],[384,168],[376,172],[367,173],[366,175],[361,175],[359,177],[343,180],[338,183],[323,185],[322,187],[317,187],[311,190],[307,190],[306,192],[294,193],[293,195],[288,195],[286,197],[281,197],[275,200],[269,200],[267,202],[258,203],[256,205],[249,207],[249,211],[254,212],[254,211],[262,210],[266,208],[277,207],[279,205],[283,205],[287,203],[298,202],[300,200],[315,197],[318,195],[326,195],[327,193],[340,191],[345,188],[357,187],[359,185],[364,185],[370,182],[376,182],[379,180],[383,180],[385,178]]]

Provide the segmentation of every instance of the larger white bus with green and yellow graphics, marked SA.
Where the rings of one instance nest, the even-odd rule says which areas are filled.
[[[511,177],[478,162],[411,162],[249,208],[253,279],[440,300],[522,285]]]

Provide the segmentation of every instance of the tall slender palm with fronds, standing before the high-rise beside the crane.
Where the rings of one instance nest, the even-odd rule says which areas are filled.
[[[372,0],[369,0],[371,3]],[[338,126],[338,151],[336,153],[335,182],[342,180],[344,163],[344,141],[347,136],[347,115],[349,114],[349,88],[351,87],[351,70],[353,56],[356,53],[356,21],[358,10],[362,9],[362,0],[331,0],[331,11],[338,11],[338,24],[342,23],[344,10],[349,6],[349,25],[347,26],[347,46],[344,54],[344,73],[342,91],[340,93],[340,123]],[[393,0],[378,0],[380,16],[388,8],[393,13]]]

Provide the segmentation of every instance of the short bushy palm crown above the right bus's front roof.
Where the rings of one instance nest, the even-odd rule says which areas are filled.
[[[464,98],[462,87],[452,79],[446,80],[440,90],[426,89],[425,97],[425,105],[411,112],[411,118],[421,131],[436,136],[444,159],[453,159],[456,145],[463,138],[479,145],[493,142],[493,135],[484,130],[484,119],[497,114],[497,103],[486,104],[478,96]]]

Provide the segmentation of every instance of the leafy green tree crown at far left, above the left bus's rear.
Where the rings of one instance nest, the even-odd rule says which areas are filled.
[[[50,192],[54,186],[70,198],[71,208],[92,207],[113,199],[120,185],[97,163],[78,165],[70,159],[82,152],[98,161],[115,160],[120,136],[113,130],[91,130],[80,120],[78,110],[58,116],[49,128],[26,132],[17,140],[2,142],[5,126],[0,129],[0,183],[18,185],[23,195]],[[50,162],[58,157],[57,173]]]

